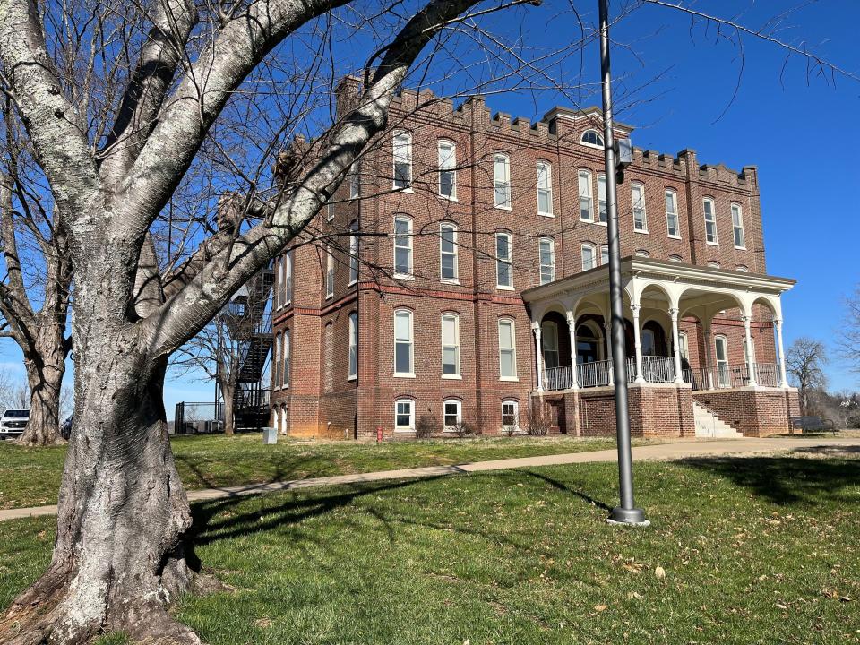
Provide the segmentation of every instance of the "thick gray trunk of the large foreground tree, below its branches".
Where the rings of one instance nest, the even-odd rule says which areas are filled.
[[[93,284],[93,282],[90,282]],[[194,580],[183,537],[191,512],[165,423],[165,358],[140,347],[140,330],[102,297],[75,302],[75,407],[57,511],[54,556],[0,620],[0,642],[199,643],[165,604]],[[109,297],[109,296],[108,296]],[[113,308],[116,308],[113,305]]]

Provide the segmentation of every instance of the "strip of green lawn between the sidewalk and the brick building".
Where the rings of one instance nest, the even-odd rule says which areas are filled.
[[[615,446],[613,440],[566,437],[449,439],[380,445],[281,438],[277,445],[267,446],[262,444],[259,433],[234,437],[180,436],[171,443],[179,474],[189,490]],[[648,442],[634,444],[641,443]],[[64,458],[64,447],[22,448],[12,442],[0,442],[0,509],[56,503]]]

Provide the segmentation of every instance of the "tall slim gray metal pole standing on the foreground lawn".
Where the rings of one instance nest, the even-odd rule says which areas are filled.
[[[618,483],[621,505],[610,522],[640,524],[645,512],[633,503],[630,452],[630,412],[627,408],[627,357],[624,355],[624,298],[621,291],[621,245],[618,241],[618,202],[615,190],[615,141],[612,133],[612,89],[609,73],[609,16],[606,0],[600,5],[600,73],[603,80],[603,140],[606,156],[606,219],[609,236],[609,304],[612,310],[612,369],[615,377],[615,433],[618,443]]]

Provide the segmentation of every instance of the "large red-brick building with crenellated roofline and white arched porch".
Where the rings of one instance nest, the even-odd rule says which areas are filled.
[[[341,108],[355,90],[341,83]],[[276,263],[272,425],[408,437],[426,416],[497,434],[539,414],[613,434],[599,116],[532,125],[404,90]],[[618,198],[633,434],[786,431],[794,281],[767,275],[756,168],[635,150]]]

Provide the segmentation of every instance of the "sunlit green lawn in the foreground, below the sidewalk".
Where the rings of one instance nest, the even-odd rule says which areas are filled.
[[[613,464],[197,504],[197,554],[235,590],[176,614],[211,645],[860,642],[860,460],[635,472],[649,529],[604,522]],[[0,524],[0,605],[53,524]]]

